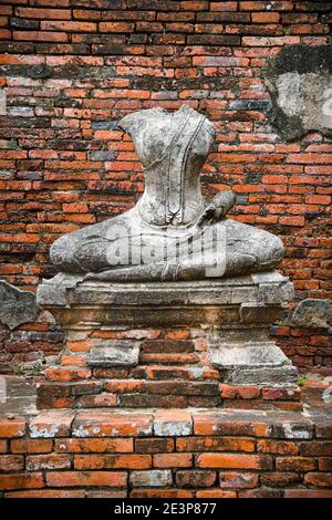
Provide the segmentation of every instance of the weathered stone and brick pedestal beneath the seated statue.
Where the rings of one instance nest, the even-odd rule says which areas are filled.
[[[38,404],[297,409],[297,370],[269,337],[292,297],[274,271],[154,283],[58,274],[39,287],[38,303],[66,343]]]

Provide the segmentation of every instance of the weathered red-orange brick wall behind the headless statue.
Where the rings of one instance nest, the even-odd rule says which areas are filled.
[[[331,145],[320,134],[282,141],[261,79],[282,45],[329,43],[329,15],[320,0],[2,1],[0,277],[35,290],[54,274],[48,251],[60,235],[131,208],[144,177],[116,122],[187,103],[217,129],[205,194],[231,186],[232,217],[283,239],[298,301],[329,298]],[[273,333],[304,372],[331,366],[324,330],[283,323]],[[61,342],[42,315],[3,329],[0,362],[12,371]]]

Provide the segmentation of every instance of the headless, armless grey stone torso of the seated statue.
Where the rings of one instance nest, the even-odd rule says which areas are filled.
[[[125,116],[145,171],[145,190],[137,204],[142,219],[154,226],[188,226],[205,208],[199,173],[215,129],[187,105],[169,114],[152,108]],[[193,143],[195,142],[195,147]]]

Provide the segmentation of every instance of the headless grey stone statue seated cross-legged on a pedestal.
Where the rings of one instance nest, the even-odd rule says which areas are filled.
[[[212,124],[183,105],[126,115],[145,171],[136,206],[101,223],[64,235],[51,259],[64,272],[110,281],[201,280],[273,269],[281,240],[226,217],[230,190],[206,201],[199,173],[215,137]]]

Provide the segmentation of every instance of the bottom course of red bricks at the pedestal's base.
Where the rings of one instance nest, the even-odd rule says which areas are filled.
[[[164,367],[154,367],[173,375]],[[127,374],[125,370],[125,374]],[[235,386],[218,379],[149,379],[149,368],[135,368],[137,376],[128,378],[106,377],[87,381],[44,382],[38,387],[39,408],[82,407],[187,407],[224,406],[242,409],[300,410],[299,387]],[[103,370],[103,375],[123,375],[121,371]],[[212,371],[212,375],[214,371]],[[141,377],[138,377],[141,376]]]

